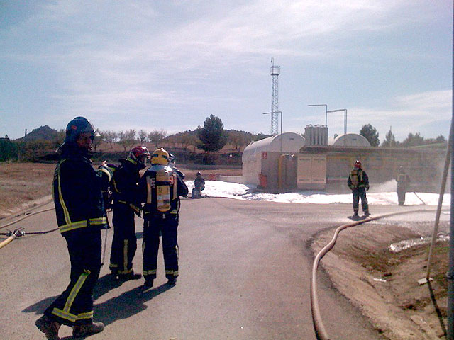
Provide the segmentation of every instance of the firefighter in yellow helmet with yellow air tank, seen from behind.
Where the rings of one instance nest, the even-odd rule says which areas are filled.
[[[175,284],[178,276],[177,228],[179,196],[187,196],[188,188],[177,171],[168,166],[169,154],[156,149],[151,166],[139,181],[143,207],[143,277],[145,287],[152,287],[156,278],[157,252],[162,234],[165,277]]]

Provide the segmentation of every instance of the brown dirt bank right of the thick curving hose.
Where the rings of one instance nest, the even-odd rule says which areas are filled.
[[[431,230],[433,223],[420,227]],[[333,234],[334,230],[317,235],[312,244],[314,254]],[[389,250],[389,244],[419,237],[406,227],[371,222],[341,232],[336,246],[321,260],[333,285],[387,339],[445,339],[447,242],[436,244],[430,285],[418,283],[426,278],[428,245],[397,253]]]

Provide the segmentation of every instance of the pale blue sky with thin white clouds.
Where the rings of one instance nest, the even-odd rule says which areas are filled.
[[[283,132],[347,110],[380,142],[448,137],[448,0],[0,0],[0,136],[82,115],[99,130],[270,133],[271,59]],[[341,135],[343,112],[328,113]],[[279,128],[280,131],[280,117]]]

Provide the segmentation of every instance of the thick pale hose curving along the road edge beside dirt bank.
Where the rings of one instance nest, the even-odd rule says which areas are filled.
[[[323,256],[325,256],[328,251],[333,249],[334,244],[336,244],[336,241],[338,239],[339,233],[347,229],[349,227],[355,227],[357,225],[362,225],[363,223],[366,222],[371,222],[374,220],[380,220],[384,217],[391,217],[395,215],[404,215],[404,214],[409,214],[409,213],[414,213],[414,212],[431,212],[433,210],[431,209],[419,209],[419,210],[408,210],[408,211],[401,211],[401,212],[391,212],[389,214],[384,214],[384,215],[379,215],[375,217],[368,217],[365,220],[360,220],[357,222],[352,222],[348,223],[346,225],[341,225],[336,229],[334,232],[333,238],[331,239],[331,242],[326,244],[326,246],[319,251],[319,254],[316,255],[314,259],[314,263],[312,265],[312,272],[311,272],[311,313],[312,313],[312,322],[314,324],[314,331],[316,334],[317,340],[330,340],[331,338],[328,336],[328,333],[326,332],[326,329],[323,325],[323,321],[321,319],[321,313],[320,313],[320,307],[319,307],[319,297],[317,294],[317,280],[316,280],[316,275],[317,275],[317,269],[319,268],[319,263]]]

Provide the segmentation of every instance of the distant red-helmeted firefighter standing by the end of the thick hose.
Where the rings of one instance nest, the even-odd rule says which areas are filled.
[[[361,162],[356,161],[347,180],[348,188],[353,193],[353,216],[358,218],[358,206],[361,198],[362,212],[365,217],[370,216],[369,206],[367,205],[366,191],[369,190],[369,178],[366,171],[362,170]]]

